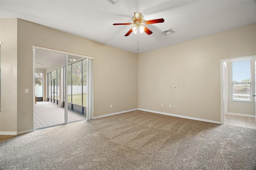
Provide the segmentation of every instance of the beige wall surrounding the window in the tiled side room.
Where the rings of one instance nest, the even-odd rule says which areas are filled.
[[[255,94],[255,59],[252,59],[252,95]],[[251,102],[232,101],[232,75],[231,61],[227,62],[228,66],[228,113],[238,113],[245,115],[255,115],[255,98]]]

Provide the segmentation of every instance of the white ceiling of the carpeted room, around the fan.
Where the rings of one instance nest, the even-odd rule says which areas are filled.
[[[153,32],[124,35],[134,12]],[[256,23],[256,0],[0,0],[0,18],[21,18],[96,42],[137,53],[224,32]],[[160,32],[171,28],[174,34]],[[138,38],[138,39],[137,39]]]

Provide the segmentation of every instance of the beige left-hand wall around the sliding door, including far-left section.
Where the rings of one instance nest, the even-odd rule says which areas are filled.
[[[10,83],[2,86],[7,98],[3,97],[0,131],[33,129],[33,45],[94,57],[94,117],[138,108],[137,54],[25,20],[0,21],[1,84]],[[30,93],[25,94],[25,89]],[[8,96],[10,91],[13,95]],[[5,123],[7,120],[11,124]]]

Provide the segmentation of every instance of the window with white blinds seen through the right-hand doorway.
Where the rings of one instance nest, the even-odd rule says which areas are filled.
[[[251,101],[251,60],[232,62],[232,100]]]

